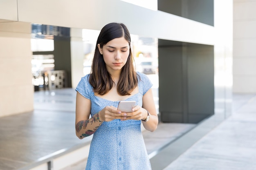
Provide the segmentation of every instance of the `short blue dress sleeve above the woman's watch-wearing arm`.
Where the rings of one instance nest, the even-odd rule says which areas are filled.
[[[146,74],[137,72],[137,75],[139,75],[139,92],[145,95],[153,84]]]

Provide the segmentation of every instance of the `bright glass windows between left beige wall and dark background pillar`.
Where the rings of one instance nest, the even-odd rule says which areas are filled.
[[[67,87],[65,71],[55,73],[56,38],[70,37],[70,28],[31,24],[31,73],[34,90]],[[64,72],[64,73],[63,73]]]

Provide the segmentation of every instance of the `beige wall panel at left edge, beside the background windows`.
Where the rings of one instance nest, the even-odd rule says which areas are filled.
[[[30,33],[30,23],[0,23],[0,117],[33,110]]]

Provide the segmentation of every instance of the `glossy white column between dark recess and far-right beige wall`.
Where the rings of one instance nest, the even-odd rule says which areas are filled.
[[[214,0],[214,28],[215,114],[225,118],[232,101],[233,0]]]

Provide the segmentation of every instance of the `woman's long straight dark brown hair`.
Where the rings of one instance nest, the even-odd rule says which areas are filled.
[[[103,60],[103,56],[99,53],[97,44],[100,44],[100,47],[102,48],[103,45],[107,44],[109,41],[121,37],[124,37],[130,46],[130,33],[127,27],[122,23],[107,24],[99,33],[89,77],[89,82],[92,85],[94,92],[99,95],[108,93],[113,87],[114,82],[110,73],[107,71],[106,64]],[[121,70],[121,75],[117,83],[117,92],[119,95],[130,95],[132,90],[135,89],[138,84],[137,73],[135,72],[133,63],[134,58],[130,46],[127,62]]]

